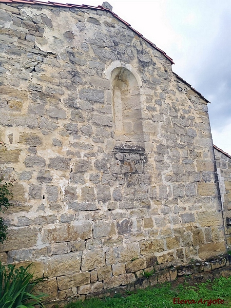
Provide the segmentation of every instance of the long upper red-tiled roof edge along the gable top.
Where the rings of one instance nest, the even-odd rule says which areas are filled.
[[[106,9],[106,8],[102,7],[101,5],[99,5],[98,7],[94,7],[94,6],[90,6],[90,5],[86,5],[86,4],[83,4],[83,5],[76,5],[76,4],[69,4],[69,3],[68,4],[62,4],[62,3],[52,2],[52,1],[43,2],[43,1],[37,1],[37,0],[0,0],[0,3],[6,3],[6,4],[17,4],[18,3],[18,4],[31,4],[31,5],[39,4],[39,5],[47,5],[47,6],[54,6],[54,7],[65,7],[65,8],[72,8],[72,9],[74,9],[74,8],[81,8],[81,9],[92,9],[92,10],[101,10],[101,11],[109,12],[113,17],[117,18],[117,20],[122,22],[130,30],[132,30],[138,36],[143,38],[143,40],[145,42],[147,42],[151,47],[155,48],[160,53],[162,53],[171,62],[171,64],[175,64],[174,61],[166,54],[166,52],[164,52],[162,49],[158,48],[155,44],[153,44],[152,42],[147,40],[147,38],[145,38],[137,30],[133,29],[130,24],[128,24],[127,22],[122,20],[122,18],[120,18],[117,14],[115,14],[112,11],[110,11],[109,9]]]

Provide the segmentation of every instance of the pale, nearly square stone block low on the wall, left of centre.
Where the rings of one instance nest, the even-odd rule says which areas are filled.
[[[106,265],[105,254],[103,249],[91,249],[90,251],[83,251],[82,256],[82,271],[90,271],[91,269],[98,268]]]

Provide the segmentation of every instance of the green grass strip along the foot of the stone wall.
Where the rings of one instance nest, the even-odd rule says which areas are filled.
[[[197,303],[174,304],[174,298],[180,300],[195,300]],[[224,299],[223,304],[213,304],[209,301],[205,304],[198,304],[200,299],[214,300]],[[210,305],[209,305],[210,304]],[[138,290],[131,295],[121,296],[116,294],[114,298],[76,301],[68,304],[65,308],[199,308],[199,307],[231,307],[231,276],[221,277],[213,282],[196,284],[196,286],[179,285],[172,289],[170,283],[164,283],[153,288]]]

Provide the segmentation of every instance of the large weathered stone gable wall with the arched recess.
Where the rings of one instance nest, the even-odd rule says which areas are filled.
[[[206,102],[170,61],[106,11],[1,4],[0,24],[1,261],[63,300],[225,252]]]

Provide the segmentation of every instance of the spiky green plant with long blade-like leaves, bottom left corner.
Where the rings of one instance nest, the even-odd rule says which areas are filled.
[[[41,299],[44,294],[34,295],[34,287],[44,278],[33,279],[28,268],[15,265],[5,266],[0,262],[0,307],[1,308],[33,308],[34,305],[44,307]]]

